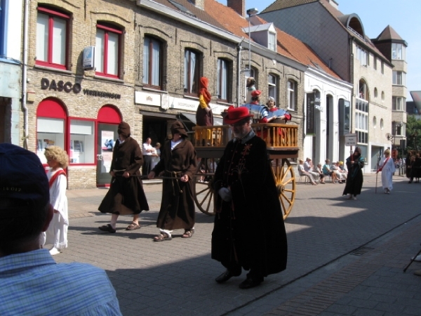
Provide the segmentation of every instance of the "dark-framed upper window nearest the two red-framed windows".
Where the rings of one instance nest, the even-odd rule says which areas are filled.
[[[143,83],[161,88],[161,41],[145,37],[143,44]]]

